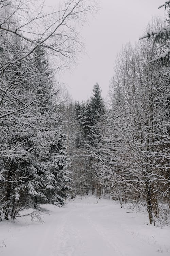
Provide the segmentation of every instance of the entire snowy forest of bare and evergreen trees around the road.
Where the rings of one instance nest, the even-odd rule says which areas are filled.
[[[92,194],[170,225],[169,5],[118,53],[108,100],[96,77],[79,102],[57,74],[82,51],[77,23],[98,5],[69,0],[45,13],[0,0],[0,221]]]

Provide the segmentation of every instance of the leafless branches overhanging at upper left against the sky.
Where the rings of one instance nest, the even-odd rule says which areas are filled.
[[[36,11],[31,9],[33,3],[27,5],[27,1],[1,1],[1,24],[0,24],[0,44],[1,54],[10,52],[8,59],[4,59],[0,65],[0,74],[7,72],[12,67],[17,67],[21,63],[34,58],[33,53],[38,46],[44,47],[50,54],[53,53],[57,62],[57,70],[69,65],[74,59],[75,53],[82,50],[82,43],[79,40],[79,33],[76,29],[77,22],[84,22],[86,13],[95,10],[95,6],[86,0],[71,0],[63,3],[60,10],[45,13],[43,4],[38,6]],[[34,9],[35,10],[35,9]],[[23,46],[16,51],[10,38],[22,39]],[[17,53],[17,54],[16,54]],[[15,56],[15,57],[14,57]],[[17,79],[22,79],[29,70],[20,73]],[[3,86],[0,106],[6,95],[15,87],[15,81]],[[1,87],[2,88],[2,87]],[[24,109],[34,103],[29,102]],[[3,107],[2,107],[3,109]],[[13,110],[14,111],[14,110]],[[23,109],[16,108],[16,112]],[[11,115],[11,111],[1,113],[0,118]]]

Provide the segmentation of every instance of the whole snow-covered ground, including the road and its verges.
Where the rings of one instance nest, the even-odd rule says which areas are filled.
[[[87,197],[43,207],[43,224],[29,216],[0,223],[1,256],[170,255],[170,228],[147,225],[147,213],[118,202]]]

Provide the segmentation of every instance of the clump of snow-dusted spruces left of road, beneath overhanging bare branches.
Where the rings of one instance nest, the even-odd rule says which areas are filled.
[[[45,52],[39,48],[36,53],[34,59],[17,65],[8,79],[1,80],[6,87],[9,82],[13,86],[3,98],[1,111],[5,111],[5,105],[12,111],[38,100],[1,122],[1,180],[6,182],[0,187],[0,207],[6,219],[9,215],[14,219],[20,210],[33,204],[36,208],[38,202],[57,204],[60,199],[62,205],[66,190],[70,189],[66,184],[70,180],[66,171],[69,161],[64,152],[61,118],[53,103],[52,73]]]

